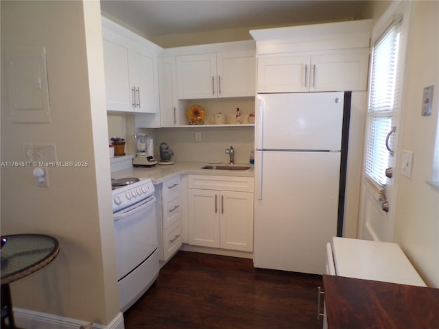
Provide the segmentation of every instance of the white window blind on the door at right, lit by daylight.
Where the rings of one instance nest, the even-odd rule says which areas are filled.
[[[399,106],[399,36],[401,21],[392,23],[372,50],[372,70],[368,103],[368,142],[366,174],[379,186],[385,186],[385,169],[390,152],[386,138],[392,130],[392,115]],[[389,144],[392,145],[392,138]]]

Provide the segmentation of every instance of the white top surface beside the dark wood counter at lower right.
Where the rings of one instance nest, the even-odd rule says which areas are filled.
[[[396,243],[333,238],[337,276],[427,287]]]

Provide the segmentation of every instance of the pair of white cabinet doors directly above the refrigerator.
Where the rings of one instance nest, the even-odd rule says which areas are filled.
[[[368,49],[258,60],[258,93],[366,90]]]

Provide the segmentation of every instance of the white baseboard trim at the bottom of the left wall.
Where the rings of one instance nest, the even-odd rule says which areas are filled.
[[[80,326],[85,326],[89,323],[69,317],[60,317],[59,315],[40,313],[16,307],[14,307],[14,320],[16,326],[32,329],[78,329]],[[107,326],[93,324],[93,329],[125,329],[123,314],[119,313]]]

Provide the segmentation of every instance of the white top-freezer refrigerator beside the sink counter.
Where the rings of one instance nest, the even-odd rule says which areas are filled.
[[[254,267],[322,274],[340,217],[344,93],[261,94],[255,112]]]

